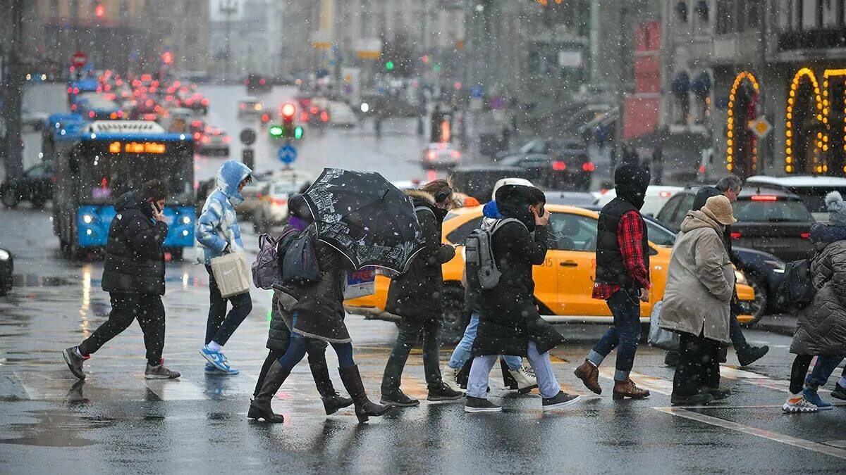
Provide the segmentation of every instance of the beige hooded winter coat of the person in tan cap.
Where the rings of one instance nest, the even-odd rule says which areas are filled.
[[[670,256],[658,325],[728,343],[734,270],[722,245],[722,225],[707,210],[689,211]]]

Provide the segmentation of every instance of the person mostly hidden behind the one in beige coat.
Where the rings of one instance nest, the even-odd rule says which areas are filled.
[[[714,187],[699,188],[693,200],[692,210],[700,210],[702,206],[705,205],[706,200],[711,198],[711,196],[722,195],[728,198],[728,201],[732,204],[735,203],[738,199],[738,195],[740,194],[741,184],[740,179],[735,175],[727,175],[726,177],[722,177]],[[743,263],[732,250],[731,232],[731,225],[726,226],[724,232],[722,232],[722,243],[728,253],[728,259],[731,259],[734,267],[739,270],[743,270]],[[738,321],[738,315],[743,311],[743,308],[740,307],[740,301],[737,297],[737,287],[735,287],[733,293],[731,314],[729,315],[729,334],[731,336],[734,352],[737,353],[740,366],[749,366],[750,364],[755,363],[755,361],[763,358],[763,356],[770,351],[770,347],[767,347],[766,345],[755,347],[746,341],[746,337],[743,334],[743,327],[740,326],[740,322]],[[724,349],[721,349],[720,355],[720,363],[725,363],[726,358],[724,355]],[[671,350],[667,352],[667,356],[664,358],[664,363],[667,364],[667,366],[675,366],[677,361],[678,351]]]

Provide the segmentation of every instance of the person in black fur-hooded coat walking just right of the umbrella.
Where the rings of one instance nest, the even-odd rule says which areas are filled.
[[[399,316],[397,341],[382,374],[382,404],[417,406],[420,401],[406,395],[400,385],[411,347],[423,338],[423,369],[429,401],[459,399],[460,391],[446,385],[438,360],[438,330],[443,315],[443,273],[441,265],[455,256],[455,248],[441,243],[443,218],[453,203],[453,188],[445,179],[426,183],[406,194],[415,206],[426,248],[411,262],[409,270],[391,281],[386,310]]]

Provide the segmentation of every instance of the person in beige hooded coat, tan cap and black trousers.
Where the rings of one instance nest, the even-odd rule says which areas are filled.
[[[719,348],[728,343],[734,294],[732,261],[722,244],[723,227],[737,220],[722,195],[689,211],[673,244],[658,325],[679,334],[673,405],[699,406],[725,399],[720,389]]]

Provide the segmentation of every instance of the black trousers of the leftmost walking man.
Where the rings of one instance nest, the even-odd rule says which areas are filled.
[[[80,343],[80,353],[90,355],[100,349],[107,341],[129,328],[132,320],[138,319],[138,325],[144,332],[144,347],[147,350],[147,363],[162,363],[164,350],[164,305],[162,296],[157,293],[109,292],[112,311],[108,319],[94,333]]]

